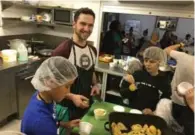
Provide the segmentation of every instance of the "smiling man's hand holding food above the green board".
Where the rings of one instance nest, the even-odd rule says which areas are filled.
[[[89,99],[82,95],[73,94],[71,100],[76,105],[76,107],[80,107],[82,109],[89,107],[89,104],[83,102],[83,101],[88,101]]]

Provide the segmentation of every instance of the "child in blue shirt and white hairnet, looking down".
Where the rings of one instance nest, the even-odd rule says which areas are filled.
[[[71,128],[79,125],[80,120],[58,122],[55,105],[68,95],[77,75],[75,66],[63,57],[52,57],[41,64],[31,81],[38,92],[25,110],[21,124],[23,133],[57,135],[58,126]]]

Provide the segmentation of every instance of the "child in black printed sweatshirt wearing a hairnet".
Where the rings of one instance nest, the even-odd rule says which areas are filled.
[[[166,62],[166,55],[158,47],[149,47],[143,56],[143,69],[138,71],[134,69],[134,73],[125,75],[120,92],[124,99],[128,99],[129,107],[154,110],[161,98],[170,98],[171,95],[168,76],[159,71],[159,66]],[[132,70],[131,65],[129,68]],[[135,66],[137,67],[139,66]]]

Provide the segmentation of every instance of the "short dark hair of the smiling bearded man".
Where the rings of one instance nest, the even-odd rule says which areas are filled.
[[[74,15],[75,22],[78,20],[80,14],[91,15],[95,19],[95,13],[93,12],[93,10],[91,10],[90,8],[80,8],[75,12],[75,15]]]

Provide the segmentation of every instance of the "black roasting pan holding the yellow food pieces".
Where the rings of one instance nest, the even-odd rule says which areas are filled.
[[[176,135],[173,131],[171,131],[167,127],[166,122],[162,118],[153,115],[112,112],[109,115],[109,122],[106,122],[104,124],[104,128],[107,131],[109,131],[111,135],[113,135],[113,132],[111,130],[112,122],[123,123],[128,128],[126,132],[129,132],[131,130],[130,127],[134,124],[140,124],[142,126],[144,124],[148,124],[148,125],[154,125],[156,128],[160,129],[162,135]],[[108,124],[109,124],[109,128],[107,127]]]

